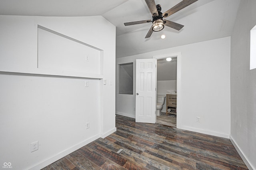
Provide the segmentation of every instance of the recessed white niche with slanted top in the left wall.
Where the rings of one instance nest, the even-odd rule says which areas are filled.
[[[38,25],[38,69],[103,75],[102,60],[102,49]]]

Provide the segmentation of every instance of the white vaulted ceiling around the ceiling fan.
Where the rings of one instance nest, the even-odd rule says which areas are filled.
[[[155,0],[162,12],[181,1]],[[101,15],[116,26],[116,57],[125,57],[230,36],[239,4],[240,0],[198,0],[166,18],[184,25],[180,31],[166,26],[147,39],[150,23],[124,26],[124,22],[152,19],[145,0],[0,0],[0,15]]]

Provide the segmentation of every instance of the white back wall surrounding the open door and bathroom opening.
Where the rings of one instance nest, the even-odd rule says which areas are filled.
[[[117,58],[116,64],[177,52],[181,52],[181,128],[229,138],[230,37]],[[135,94],[135,89],[128,97],[116,93],[117,114],[135,117]],[[201,117],[200,123],[196,117]]]

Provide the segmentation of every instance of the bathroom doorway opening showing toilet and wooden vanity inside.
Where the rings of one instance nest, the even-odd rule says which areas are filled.
[[[169,60],[169,61],[168,61]],[[157,59],[157,107],[165,97],[156,116],[156,123],[176,127],[177,57]]]

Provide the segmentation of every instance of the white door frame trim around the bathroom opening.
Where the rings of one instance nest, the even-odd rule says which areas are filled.
[[[181,127],[181,117],[182,117],[182,110],[181,110],[181,52],[178,53],[168,53],[163,55],[153,55],[152,58],[155,59],[163,59],[167,57],[177,57],[177,108],[176,108],[176,127]],[[157,75],[156,75],[157,76]],[[157,81],[157,77],[156,77]]]

